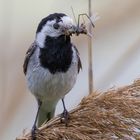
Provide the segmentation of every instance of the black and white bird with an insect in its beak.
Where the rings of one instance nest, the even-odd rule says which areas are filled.
[[[64,96],[73,88],[81,68],[79,53],[69,33],[74,26],[69,16],[50,14],[39,23],[35,41],[26,53],[23,69],[28,88],[38,102],[33,130],[37,121],[40,126],[54,116],[60,99],[67,121]]]

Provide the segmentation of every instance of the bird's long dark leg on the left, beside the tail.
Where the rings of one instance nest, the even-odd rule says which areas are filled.
[[[41,104],[42,104],[42,102],[40,100],[38,100],[37,114],[36,114],[35,121],[34,121],[34,124],[33,124],[33,127],[32,127],[32,132],[31,132],[32,140],[36,139],[35,138],[35,131],[37,130],[36,122],[37,122],[37,119],[38,119],[38,114],[39,114],[39,111],[40,111]]]

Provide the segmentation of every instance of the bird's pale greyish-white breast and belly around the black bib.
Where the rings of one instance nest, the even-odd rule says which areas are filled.
[[[78,59],[73,48],[73,60],[66,73],[51,74],[49,70],[39,64],[39,49],[31,57],[27,69],[27,84],[30,91],[41,101],[59,100],[63,98],[74,86],[78,73]]]

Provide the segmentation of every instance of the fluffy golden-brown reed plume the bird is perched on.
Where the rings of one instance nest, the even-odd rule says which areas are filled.
[[[56,117],[36,133],[37,140],[140,140],[140,80],[93,93],[70,112],[68,127]],[[30,140],[24,134],[17,140]]]

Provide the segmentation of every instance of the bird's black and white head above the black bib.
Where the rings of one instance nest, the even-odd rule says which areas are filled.
[[[74,27],[73,20],[63,14],[54,13],[43,18],[36,31],[36,41],[44,44],[46,36],[57,38],[61,35],[70,36],[69,31]]]

